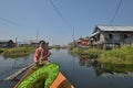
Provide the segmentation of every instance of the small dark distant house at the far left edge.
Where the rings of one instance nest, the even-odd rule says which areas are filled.
[[[13,47],[14,43],[12,40],[0,40],[0,47]]]

